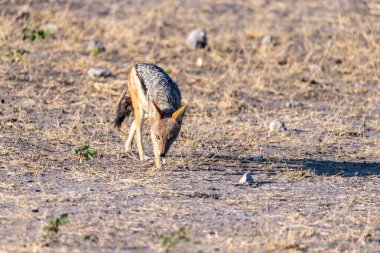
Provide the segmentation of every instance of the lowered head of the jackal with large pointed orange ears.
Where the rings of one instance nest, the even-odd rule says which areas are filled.
[[[161,109],[153,101],[150,102],[149,121],[152,141],[161,157],[165,157],[170,146],[177,139],[186,108],[187,105],[184,105],[170,117],[164,117]]]

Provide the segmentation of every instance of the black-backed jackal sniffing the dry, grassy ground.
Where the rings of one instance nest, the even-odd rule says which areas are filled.
[[[134,121],[125,142],[125,150],[131,150],[135,137],[140,160],[147,159],[141,134],[145,116],[148,114],[156,167],[161,168],[162,157],[165,157],[176,140],[187,108],[187,105],[181,106],[181,92],[162,68],[138,63],[129,71],[128,90],[125,89],[120,97],[114,120],[115,127],[120,128],[132,108]]]

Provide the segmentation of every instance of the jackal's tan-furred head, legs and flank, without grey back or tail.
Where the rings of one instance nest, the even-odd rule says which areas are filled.
[[[125,143],[125,149],[127,152],[131,150],[133,137],[135,137],[140,160],[146,160],[148,158],[145,155],[141,138],[145,115],[148,114],[155,163],[157,168],[161,168],[162,156],[165,156],[168,153],[171,144],[175,141],[181,130],[182,117],[186,111],[187,105],[179,108],[171,115],[171,117],[164,117],[162,111],[154,101],[150,101],[150,103],[148,102],[147,97],[144,95],[143,86],[137,76],[135,67],[132,67],[129,72],[128,88],[135,113],[135,119],[130,127],[129,136]]]

